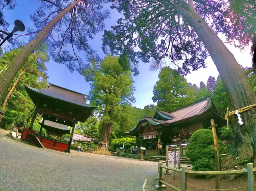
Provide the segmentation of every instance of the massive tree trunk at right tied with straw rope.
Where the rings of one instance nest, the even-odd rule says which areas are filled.
[[[207,48],[216,65],[228,95],[230,109],[238,110],[248,105],[256,104],[256,96],[250,86],[244,71],[220,38],[197,14],[192,1],[189,0],[187,10],[180,6],[175,9],[186,22],[195,30],[198,37]],[[232,156],[222,163],[222,168],[229,166],[243,166],[254,162],[256,165],[256,109],[241,113],[244,124],[240,126],[236,115],[231,116],[234,140],[232,142]],[[232,164],[232,161],[234,163]]]

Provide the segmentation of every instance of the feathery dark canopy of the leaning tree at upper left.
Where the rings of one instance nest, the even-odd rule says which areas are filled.
[[[10,1],[15,4],[15,0]],[[30,16],[35,28],[27,28],[27,33],[14,35],[12,45],[24,45],[26,36],[30,37],[29,40],[33,39],[53,18],[75,1],[39,0],[40,6]],[[65,64],[70,71],[82,72],[84,60],[99,59],[88,41],[104,29],[104,20],[110,14],[104,7],[107,3],[108,0],[81,0],[52,28],[44,43],[48,45],[49,55],[55,62]],[[20,40],[14,40],[17,38]]]

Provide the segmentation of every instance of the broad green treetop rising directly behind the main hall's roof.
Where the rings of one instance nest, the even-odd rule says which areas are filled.
[[[154,86],[152,100],[157,102],[158,108],[172,111],[195,100],[189,91],[191,87],[184,77],[170,67],[163,68],[159,75],[159,80]]]

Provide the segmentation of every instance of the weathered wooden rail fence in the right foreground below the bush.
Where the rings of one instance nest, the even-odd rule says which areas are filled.
[[[234,189],[241,189],[247,187],[247,191],[254,191],[253,187],[256,186],[254,185],[254,171],[256,171],[256,168],[253,167],[253,163],[248,163],[247,164],[247,169],[242,169],[242,170],[230,170],[230,171],[192,171],[188,170],[188,167],[181,167],[181,169],[176,169],[168,166],[163,166],[163,163],[166,163],[166,161],[159,161],[158,162],[158,185],[156,187],[164,187],[165,185],[176,190],[176,191],[186,191],[187,190],[187,185],[191,185],[194,187],[198,187],[196,185],[192,185],[188,183],[188,174],[195,174],[195,175],[240,175],[240,174],[247,174],[247,186],[242,186]],[[163,171],[163,169],[165,169]],[[163,177],[163,172],[167,170],[172,170],[174,172],[179,172],[181,173],[181,189],[172,186],[171,184],[167,183],[164,181]],[[164,184],[164,185],[163,185]],[[202,189],[206,190],[215,190],[215,189],[210,189],[210,188],[203,188]],[[219,189],[219,190],[225,190],[225,189]],[[230,189],[231,190],[231,189]]]

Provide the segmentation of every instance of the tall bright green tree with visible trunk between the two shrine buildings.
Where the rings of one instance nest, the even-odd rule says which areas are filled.
[[[100,63],[92,62],[84,70],[84,77],[90,82],[90,103],[99,106],[103,121],[100,141],[108,143],[111,127],[122,113],[122,104],[135,102],[133,80],[129,62],[108,55]]]

